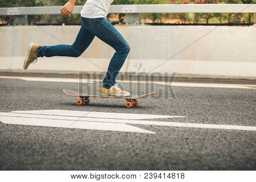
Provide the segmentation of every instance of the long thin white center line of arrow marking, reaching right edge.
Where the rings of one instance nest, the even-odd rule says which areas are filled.
[[[15,122],[15,118],[28,118],[28,119],[52,119],[55,121],[69,120],[72,122],[102,122],[102,123],[126,123],[133,125],[155,125],[155,126],[173,126],[173,127],[192,127],[204,129],[225,129],[225,130],[247,130],[256,131],[256,126],[238,126],[238,125],[210,125],[200,123],[181,123],[181,122],[162,122],[162,121],[142,121],[130,119],[107,119],[107,118],[86,118],[86,117],[63,117],[57,115],[40,115],[40,114],[18,114],[18,113],[0,113],[0,121],[5,123],[2,118],[11,117]],[[134,131],[136,132],[136,131]]]

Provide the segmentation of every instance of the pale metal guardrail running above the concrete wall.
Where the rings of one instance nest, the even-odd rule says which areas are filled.
[[[43,7],[9,7],[0,8],[0,15],[19,16],[26,15],[60,14],[62,6]],[[82,6],[75,6],[73,14],[80,14]],[[110,13],[127,14],[126,22],[139,23],[140,13],[256,13],[255,4],[204,4],[204,5],[112,5]]]

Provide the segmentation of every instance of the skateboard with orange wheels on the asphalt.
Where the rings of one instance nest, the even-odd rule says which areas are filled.
[[[151,94],[154,94],[155,92],[143,94],[143,95],[133,95],[131,94],[130,97],[115,97],[115,96],[100,96],[100,94],[89,94],[89,93],[80,93],[75,90],[69,90],[69,89],[64,89],[63,92],[65,94],[68,94],[68,96],[72,97],[80,97],[76,100],[77,105],[82,105],[82,104],[89,104],[90,103],[90,97],[101,97],[101,98],[123,98],[126,99],[125,106],[127,108],[131,108],[133,106],[138,106],[139,105],[139,98],[142,97],[147,97],[150,96]]]

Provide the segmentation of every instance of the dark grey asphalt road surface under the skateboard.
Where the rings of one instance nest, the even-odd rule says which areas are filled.
[[[61,77],[56,75],[0,75]],[[123,78],[127,80],[128,78]],[[136,78],[133,78],[136,81]],[[154,97],[127,109],[125,101],[93,98],[77,106],[64,88],[74,82],[26,81],[0,77],[0,112],[76,110],[106,113],[180,115],[148,121],[256,126],[255,81],[188,80],[251,85],[241,88],[168,86],[154,82],[121,82],[132,93],[155,91]],[[80,84],[96,92],[100,81]],[[100,117],[100,116],[99,116]],[[256,131],[132,125],[155,134],[10,125],[0,122],[0,169],[4,170],[253,170]]]

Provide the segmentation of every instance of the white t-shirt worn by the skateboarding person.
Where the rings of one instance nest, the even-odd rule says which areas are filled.
[[[81,11],[84,18],[106,18],[114,0],[87,0]]]

